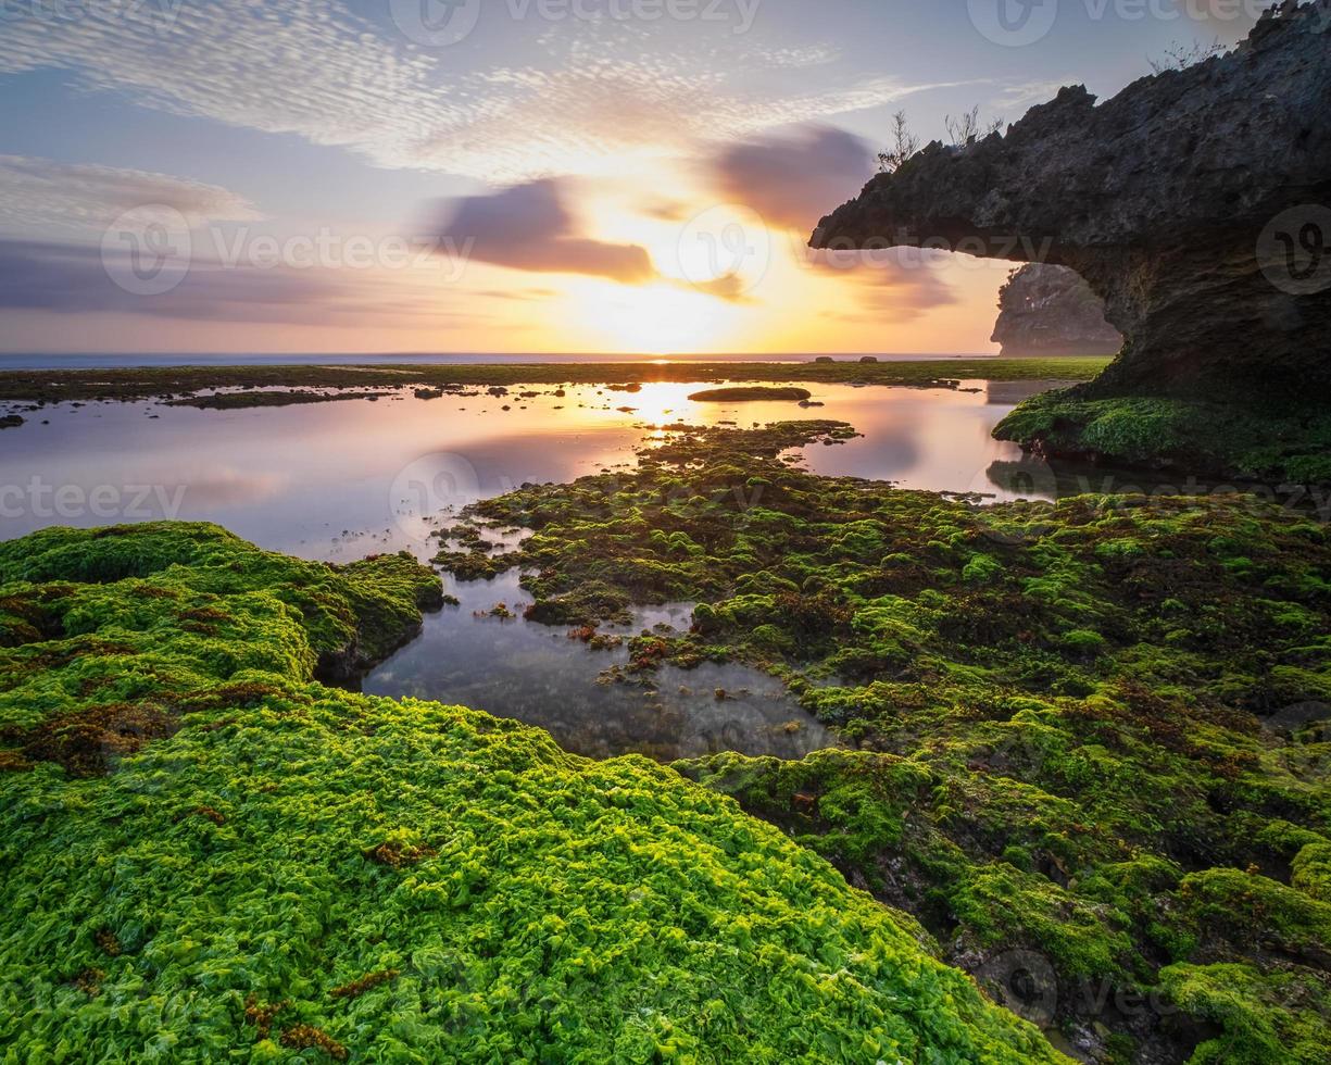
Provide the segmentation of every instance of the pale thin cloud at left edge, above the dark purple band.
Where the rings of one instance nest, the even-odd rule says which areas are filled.
[[[11,232],[102,230],[145,205],[177,210],[190,225],[261,217],[248,200],[218,185],[32,156],[0,156],[0,228]]]

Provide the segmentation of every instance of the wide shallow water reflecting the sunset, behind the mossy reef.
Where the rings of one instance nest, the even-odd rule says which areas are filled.
[[[680,419],[847,421],[864,438],[809,449],[816,473],[1008,499],[1025,493],[989,471],[996,462],[1020,461],[1021,451],[989,434],[1016,402],[1044,387],[816,385],[815,399],[824,406],[801,409],[689,402],[704,383],[648,383],[636,393],[567,386],[563,395],[550,386],[511,387],[506,395],[438,399],[403,390],[377,402],[230,411],[160,403],[48,407],[0,435],[0,538],[49,525],[176,517],[218,522],[306,558],[423,550],[426,530],[398,521],[403,501],[410,502],[401,478],[413,463],[461,459],[475,494],[496,495],[523,482],[571,481],[632,462],[644,425]],[[98,490],[102,505],[95,507]],[[1054,494],[1047,485],[1033,491]]]

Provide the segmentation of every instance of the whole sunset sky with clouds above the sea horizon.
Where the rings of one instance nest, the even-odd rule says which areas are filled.
[[[0,0],[0,353],[985,353],[1009,266],[828,257],[922,142],[1256,0]]]

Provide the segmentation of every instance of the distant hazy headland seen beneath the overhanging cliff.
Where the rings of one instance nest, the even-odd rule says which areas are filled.
[[[1115,355],[1123,337],[1105,321],[1105,301],[1081,274],[1029,262],[998,293],[993,342],[1008,357]]]

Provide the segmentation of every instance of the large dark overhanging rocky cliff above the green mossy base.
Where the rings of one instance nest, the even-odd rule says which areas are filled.
[[[1077,270],[1127,350],[1083,395],[1271,403],[1331,386],[1331,0],[1097,106],[933,144],[823,220],[819,248],[926,244]]]

